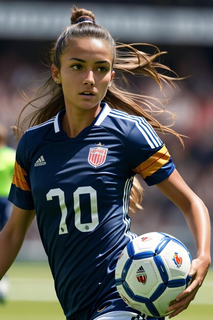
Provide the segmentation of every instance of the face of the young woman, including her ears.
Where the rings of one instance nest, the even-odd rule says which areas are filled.
[[[100,105],[114,76],[108,47],[100,39],[74,39],[60,58],[60,70],[53,65],[52,75],[62,85],[66,108],[88,110]]]

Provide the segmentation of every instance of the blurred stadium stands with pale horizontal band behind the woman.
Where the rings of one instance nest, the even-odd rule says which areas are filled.
[[[212,220],[213,182],[213,2],[212,0],[131,1],[0,1],[1,122],[14,125],[24,101],[18,90],[34,96],[34,78],[46,71],[50,44],[69,24],[73,5],[92,10],[97,22],[120,42],[145,42],[167,51],[162,62],[180,77],[178,89],[164,88],[167,109],[178,115],[175,129],[189,136],[185,149],[177,139],[163,136],[176,167],[204,200]],[[145,49],[146,50],[146,49]],[[39,78],[42,81],[42,77]],[[131,79],[132,80],[132,79]],[[162,97],[146,78],[135,83],[143,92]],[[162,120],[163,121],[163,120]],[[9,145],[16,148],[10,136]],[[193,258],[196,249],[182,214],[156,187],[145,189],[144,210],[132,214],[132,232],[162,231],[183,241]],[[46,261],[36,221],[17,261]]]

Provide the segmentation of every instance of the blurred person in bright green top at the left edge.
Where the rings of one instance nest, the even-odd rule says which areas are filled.
[[[11,181],[14,171],[15,150],[8,143],[9,130],[0,123],[0,231],[5,226],[12,203],[8,201]],[[0,281],[0,303],[5,302],[8,293],[8,280],[4,277]]]

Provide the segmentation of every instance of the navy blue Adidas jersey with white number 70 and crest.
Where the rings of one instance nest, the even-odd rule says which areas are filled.
[[[115,288],[116,261],[135,237],[128,217],[134,175],[153,185],[175,168],[145,119],[101,107],[76,138],[61,129],[65,110],[28,129],[17,147],[9,195],[17,207],[36,210],[67,318]]]

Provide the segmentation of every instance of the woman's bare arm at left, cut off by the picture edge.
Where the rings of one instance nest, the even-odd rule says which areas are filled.
[[[13,206],[11,216],[0,233],[0,279],[15,260],[28,228],[35,217],[34,210]]]

